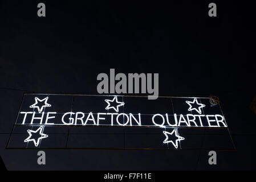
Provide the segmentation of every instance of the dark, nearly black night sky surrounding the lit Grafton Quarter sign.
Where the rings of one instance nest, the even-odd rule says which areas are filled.
[[[255,3],[0,1],[0,154],[8,169],[255,169]],[[159,73],[160,96],[220,97],[237,151],[6,150],[24,92],[97,94],[97,74]]]

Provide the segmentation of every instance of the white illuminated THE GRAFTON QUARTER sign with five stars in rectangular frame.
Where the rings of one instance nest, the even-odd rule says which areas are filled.
[[[79,143],[83,135],[88,136],[88,131],[79,131],[80,138],[76,138],[75,142],[68,143],[71,142],[68,138],[79,135],[70,131],[75,127],[79,127],[80,130],[90,128],[93,130],[90,131],[90,134],[94,136],[97,135],[97,128],[102,127],[108,132],[111,128],[130,129],[130,133],[123,133],[124,143],[126,135],[130,138],[133,136],[134,141],[139,141],[136,138],[138,134],[133,133],[137,129],[143,129],[144,136],[151,135],[151,137],[153,134],[147,134],[148,130],[156,129],[158,133],[151,143],[157,143],[155,141],[157,140],[160,148],[167,145],[168,148],[173,149],[181,149],[182,143],[185,143],[186,140],[189,141],[188,133],[180,132],[181,130],[228,129],[221,107],[210,107],[207,97],[159,97],[152,101],[147,100],[147,97],[134,96],[25,94],[7,148],[52,147],[51,140],[54,141],[58,138],[56,137],[58,131],[55,130],[64,130],[65,126],[68,131],[59,135],[67,137],[67,139],[60,139],[60,141],[65,140],[66,144],[59,141],[62,143],[60,148],[72,148],[68,145]],[[54,131],[50,132],[52,129]],[[131,131],[131,129],[134,130]],[[18,139],[14,139],[14,136],[18,134],[25,137],[22,142],[26,146],[20,147],[22,146],[21,136],[17,144]],[[112,135],[115,136],[115,133]],[[120,137],[120,134],[116,134],[116,136]],[[127,138],[129,139],[129,137]],[[112,142],[115,142],[116,139],[115,137],[111,138]],[[109,142],[111,140],[109,139]],[[100,142],[97,143],[100,144]],[[128,143],[133,142],[130,139]],[[145,141],[141,142],[142,145],[144,143]],[[83,144],[78,144],[78,146],[74,148],[84,147]],[[136,143],[135,147],[131,148],[138,148],[138,144]]]

